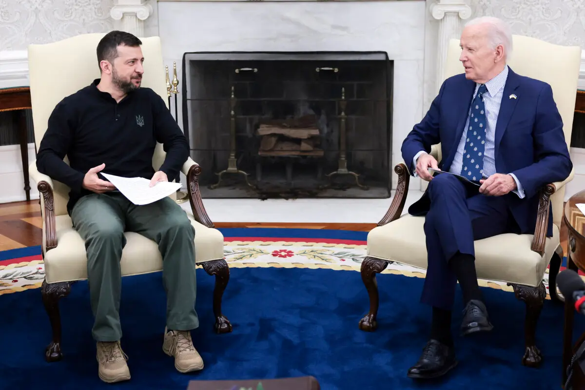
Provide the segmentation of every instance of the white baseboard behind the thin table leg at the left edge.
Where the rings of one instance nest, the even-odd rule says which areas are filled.
[[[29,144],[29,162],[35,161],[35,144]],[[0,146],[0,203],[26,201],[20,145]],[[29,180],[30,199],[39,199],[36,182]]]

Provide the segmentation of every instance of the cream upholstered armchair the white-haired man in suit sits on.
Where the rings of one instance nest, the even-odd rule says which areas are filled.
[[[459,40],[452,39],[443,80],[463,73]],[[513,37],[513,52],[508,64],[520,75],[548,82],[563,119],[565,141],[570,144],[573,112],[576,98],[580,47],[565,47],[546,43],[531,37]],[[433,145],[432,154],[440,161],[441,148]],[[370,298],[370,311],[359,327],[362,330],[376,329],[378,311],[378,289],[376,273],[386,269],[390,263],[407,264],[426,269],[424,216],[402,215],[408,193],[410,164],[398,164],[398,187],[386,215],[367,236],[367,257],[361,268],[362,280]],[[550,297],[559,301],[556,291],[556,275],[563,258],[559,245],[559,229],[563,214],[564,185],[572,180],[573,172],[563,182],[550,183],[541,190],[536,232],[532,234],[501,234],[475,242],[476,269],[479,279],[507,282],[516,297],[526,303],[525,353],[522,364],[537,367],[542,360],[535,346],[536,322],[540,315],[546,289],[543,277],[550,263]],[[549,207],[553,211],[553,236],[546,237]]]

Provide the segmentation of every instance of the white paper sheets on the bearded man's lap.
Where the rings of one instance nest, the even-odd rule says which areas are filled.
[[[150,187],[150,180],[143,177],[126,178],[100,173],[135,205],[147,205],[159,201],[181,188],[181,183],[159,181],[156,185]]]

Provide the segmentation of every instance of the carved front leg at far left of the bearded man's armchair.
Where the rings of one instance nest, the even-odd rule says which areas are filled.
[[[49,315],[53,340],[44,350],[44,358],[47,362],[59,361],[63,358],[61,353],[61,315],[59,313],[59,300],[69,295],[71,282],[47,283],[45,279],[41,287],[44,309]]]

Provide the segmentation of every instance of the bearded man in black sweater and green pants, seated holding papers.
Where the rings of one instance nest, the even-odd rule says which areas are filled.
[[[156,241],[163,257],[167,292],[167,327],[163,350],[180,372],[201,370],[190,330],[199,326],[195,312],[195,230],[180,206],[164,198],[137,206],[100,172],[150,179],[150,185],[175,178],[189,156],[185,136],[163,99],[140,88],[144,58],[142,42],[113,31],[97,47],[101,78],[57,104],[37,153],[39,172],[70,189],[67,211],[85,240],[92,336],[97,341],[98,374],[102,381],[130,379],[120,340],[120,260],[124,232]],[[152,157],[156,143],[167,152],[159,171]],[[68,157],[70,164],[65,163]]]

